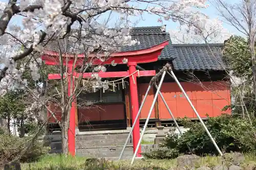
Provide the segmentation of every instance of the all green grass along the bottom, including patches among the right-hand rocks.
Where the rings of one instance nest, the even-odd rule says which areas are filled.
[[[23,170],[125,170],[125,169],[147,169],[147,170],[170,170],[177,169],[177,160],[136,160],[134,165],[130,165],[131,161],[108,161],[104,165],[97,164],[86,164],[86,158],[84,157],[71,157],[71,156],[61,156],[61,155],[47,155],[42,157],[39,161],[34,163],[27,163],[22,165]],[[195,167],[202,165],[213,167],[221,164],[220,157],[206,156],[202,157],[199,164]],[[256,156],[252,154],[245,155],[245,161],[242,167],[249,165],[256,165]]]

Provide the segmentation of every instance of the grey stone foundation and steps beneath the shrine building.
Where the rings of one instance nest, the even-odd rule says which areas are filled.
[[[181,127],[182,130],[185,130]],[[112,131],[89,131],[79,132],[76,130],[76,155],[86,157],[118,157],[122,147],[129,135],[131,128],[127,130],[112,130]],[[166,134],[169,128],[164,128]],[[178,130],[176,130],[178,133]],[[158,144],[153,144],[158,133],[157,128],[150,128],[145,131],[143,141],[152,142],[152,144],[142,144],[142,152],[158,149]],[[44,137],[41,137],[43,139]],[[61,134],[55,131],[48,136],[50,141],[51,153],[61,152]],[[123,157],[133,156],[132,137],[127,143]]]

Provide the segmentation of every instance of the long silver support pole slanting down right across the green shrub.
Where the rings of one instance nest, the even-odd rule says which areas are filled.
[[[212,141],[212,143],[214,143],[215,148],[217,149],[217,151],[219,152],[220,156],[222,156],[222,152],[220,150],[220,148],[218,147],[217,143],[215,142],[214,138],[212,138],[210,132],[208,131],[207,127],[205,126],[202,118],[200,117],[200,115],[198,114],[196,108],[194,107],[194,105],[192,104],[192,102],[190,101],[190,99],[187,96],[187,93],[185,92],[185,90],[183,89],[183,87],[181,86],[179,80],[177,79],[177,77],[175,76],[173,70],[170,70],[170,74],[172,74],[174,80],[176,81],[176,83],[178,84],[178,86],[180,87],[181,91],[183,92],[183,94],[185,95],[186,100],[188,101],[188,103],[190,104],[191,108],[194,110],[194,112],[197,115],[197,118],[199,119],[199,121],[201,122],[204,130],[206,131],[207,135],[209,136],[210,140]]]

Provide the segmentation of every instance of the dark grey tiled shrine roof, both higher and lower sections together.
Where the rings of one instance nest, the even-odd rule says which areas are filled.
[[[169,39],[169,34],[162,32],[161,27],[134,28],[131,36],[140,44],[122,47],[121,51],[141,50]],[[208,46],[207,44],[172,44],[169,42],[158,59],[173,59],[175,70],[223,70],[223,66],[226,65],[221,56],[221,48],[222,44],[209,44]]]

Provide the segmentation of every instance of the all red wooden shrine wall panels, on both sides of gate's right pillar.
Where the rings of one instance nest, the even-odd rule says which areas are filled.
[[[206,114],[211,117],[220,115],[224,113],[221,109],[229,105],[230,87],[227,82],[202,82],[200,86],[190,82],[181,82],[181,85],[201,117],[206,117]],[[148,83],[138,85],[139,103],[142,102],[147,88]],[[196,118],[196,114],[191,109],[176,83],[163,83],[161,92],[175,117],[186,116]],[[140,118],[147,117],[153,99],[154,91],[152,88],[142,108]],[[55,115],[60,120],[60,109],[54,105],[51,105],[50,109],[56,112]],[[78,109],[78,122],[124,119],[124,112],[124,104],[104,104],[98,105],[98,107],[93,106],[87,109]],[[160,96],[158,97],[158,112],[160,119],[171,118]],[[231,111],[228,110],[225,113],[231,113]],[[151,118],[155,118],[155,108],[153,109]],[[53,117],[50,118],[50,122],[55,122],[55,119]]]

